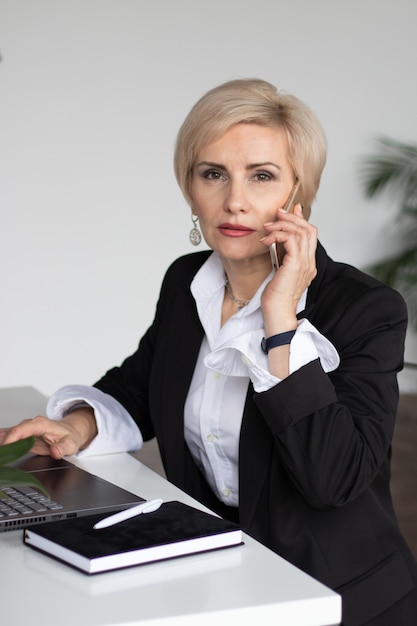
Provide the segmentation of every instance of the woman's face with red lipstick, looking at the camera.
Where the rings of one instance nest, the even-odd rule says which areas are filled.
[[[262,260],[263,225],[277,219],[295,176],[280,128],[237,124],[200,150],[193,168],[191,207],[208,246],[226,260]]]

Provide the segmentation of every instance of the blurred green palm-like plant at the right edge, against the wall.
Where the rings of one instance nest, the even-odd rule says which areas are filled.
[[[402,294],[417,330],[417,145],[387,137],[377,143],[376,154],[361,163],[363,189],[367,198],[387,191],[396,199],[403,247],[367,269]]]

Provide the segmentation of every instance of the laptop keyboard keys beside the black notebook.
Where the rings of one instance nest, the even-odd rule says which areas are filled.
[[[3,487],[0,490],[0,520],[16,515],[33,515],[45,511],[59,511],[63,506],[50,500],[32,487]]]

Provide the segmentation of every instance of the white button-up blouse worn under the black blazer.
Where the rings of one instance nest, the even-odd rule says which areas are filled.
[[[217,497],[230,506],[239,503],[239,433],[249,380],[262,392],[280,382],[268,371],[261,350],[264,336],[261,295],[268,276],[249,304],[222,327],[225,276],[213,253],[191,283],[205,331],[185,403],[185,440]],[[305,308],[307,292],[297,312]],[[333,345],[308,320],[301,320],[290,344],[290,373],[320,357],[325,371],[339,365]]]

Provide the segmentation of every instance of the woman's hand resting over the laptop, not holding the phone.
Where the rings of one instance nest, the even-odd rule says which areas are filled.
[[[54,459],[76,454],[86,448],[97,435],[93,409],[88,407],[69,413],[62,420],[50,420],[38,415],[16,426],[0,429],[0,445],[26,437],[35,437],[31,452]]]

